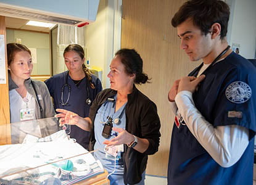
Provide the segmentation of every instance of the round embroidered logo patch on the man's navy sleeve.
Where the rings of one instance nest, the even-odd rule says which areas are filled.
[[[235,104],[242,104],[248,101],[251,96],[252,89],[243,81],[234,81],[226,88],[226,98]]]

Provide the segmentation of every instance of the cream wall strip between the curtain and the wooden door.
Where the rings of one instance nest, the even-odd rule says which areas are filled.
[[[91,67],[102,68],[103,88],[109,88],[109,65],[121,47],[121,0],[101,0],[96,21],[86,26],[86,59]]]

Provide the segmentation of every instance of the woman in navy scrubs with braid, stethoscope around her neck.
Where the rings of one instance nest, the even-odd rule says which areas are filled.
[[[54,99],[54,108],[70,110],[80,117],[88,117],[91,103],[102,90],[101,81],[86,68],[85,52],[80,45],[68,45],[64,50],[64,60],[68,71],[45,81]],[[68,125],[67,134],[88,149],[90,136],[88,131],[76,125]]]

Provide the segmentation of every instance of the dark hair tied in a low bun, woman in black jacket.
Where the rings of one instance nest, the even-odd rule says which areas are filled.
[[[125,65],[127,74],[136,75],[134,83],[142,84],[148,82],[147,74],[142,72],[143,60],[135,49],[120,49],[115,55],[120,57],[122,64]]]

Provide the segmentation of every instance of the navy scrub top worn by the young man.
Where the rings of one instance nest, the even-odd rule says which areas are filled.
[[[189,74],[194,76],[199,68]],[[249,130],[249,145],[233,166],[223,168],[199,144],[186,123],[174,124],[168,184],[252,184],[256,131],[256,68],[234,52],[204,72],[193,93],[196,108],[213,127],[240,125]],[[233,97],[233,98],[230,98]],[[236,115],[231,113],[235,112]],[[241,114],[238,114],[241,112]]]

